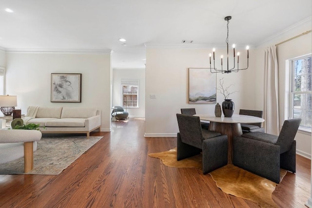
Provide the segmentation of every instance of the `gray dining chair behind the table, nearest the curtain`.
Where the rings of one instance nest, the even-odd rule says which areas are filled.
[[[255,111],[255,110],[239,110],[240,115],[252,115],[259,118],[262,118],[263,111]],[[261,127],[262,123],[253,123],[253,124],[240,124],[242,127],[243,133],[248,132],[264,132],[264,128]]]

